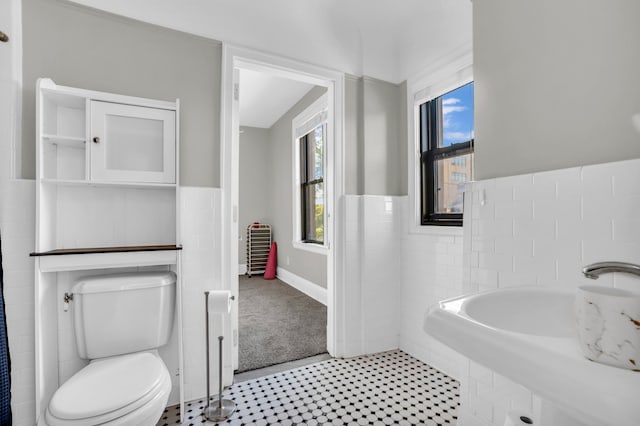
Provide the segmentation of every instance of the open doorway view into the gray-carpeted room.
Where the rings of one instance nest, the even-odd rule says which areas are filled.
[[[326,127],[327,88],[264,71],[241,68],[239,74],[237,372],[242,373],[327,351],[326,160],[324,133],[317,131]],[[315,105],[322,108],[309,114]],[[300,120],[306,127],[296,126]],[[305,135],[292,135],[292,125]],[[309,155],[297,152],[311,144]],[[296,159],[308,158],[313,170],[306,175],[319,183],[296,191],[303,185]],[[301,192],[314,197],[300,203],[294,195]],[[296,220],[302,205],[305,213],[314,213],[309,228],[317,236],[292,245],[302,240]],[[277,277],[273,270],[265,273],[271,241],[278,248]]]

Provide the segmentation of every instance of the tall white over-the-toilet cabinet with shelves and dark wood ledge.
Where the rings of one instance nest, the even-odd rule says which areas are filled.
[[[174,379],[169,402],[183,404],[179,103],[50,79],[38,80],[36,96],[38,423],[55,390],[87,363],[76,353],[65,293],[89,275],[176,272],[174,332],[159,352]]]

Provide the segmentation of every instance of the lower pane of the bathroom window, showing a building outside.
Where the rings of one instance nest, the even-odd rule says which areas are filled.
[[[471,180],[472,176],[471,155],[445,158],[435,162],[434,213],[462,213],[464,183]]]

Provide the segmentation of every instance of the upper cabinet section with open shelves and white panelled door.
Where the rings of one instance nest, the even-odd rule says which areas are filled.
[[[95,99],[41,83],[38,171],[45,182],[176,183],[175,103],[125,104],[136,98]]]

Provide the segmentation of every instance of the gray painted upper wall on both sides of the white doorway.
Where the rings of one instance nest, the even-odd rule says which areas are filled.
[[[180,181],[220,186],[221,46],[60,0],[24,0],[21,177],[35,177],[35,81],[180,98]],[[55,36],[52,36],[55,35]],[[348,194],[404,195],[404,84],[352,77],[345,94]]]

